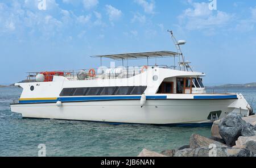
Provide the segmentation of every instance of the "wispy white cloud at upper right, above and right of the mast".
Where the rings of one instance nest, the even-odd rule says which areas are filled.
[[[193,8],[184,10],[178,16],[180,24],[188,30],[213,30],[215,27],[225,26],[233,19],[233,15],[226,12],[209,10],[208,3],[191,2],[191,5]]]

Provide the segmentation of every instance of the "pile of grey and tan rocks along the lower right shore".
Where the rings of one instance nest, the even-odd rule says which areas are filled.
[[[138,157],[256,157],[256,115],[231,113],[214,121],[210,138],[192,134],[189,145],[161,153],[143,149]]]

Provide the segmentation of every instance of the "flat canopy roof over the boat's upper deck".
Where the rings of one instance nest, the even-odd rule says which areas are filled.
[[[175,57],[178,53],[171,51],[155,51],[143,53],[126,53],[126,54],[111,54],[102,56],[92,56],[93,58],[111,58],[113,60],[133,60],[142,58],[159,58],[159,57]]]

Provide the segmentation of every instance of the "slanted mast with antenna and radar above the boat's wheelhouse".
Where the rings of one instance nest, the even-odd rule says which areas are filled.
[[[185,62],[185,57],[184,57],[184,55],[183,55],[183,53],[182,53],[182,51],[181,51],[181,47],[180,47],[180,45],[184,45],[184,44],[186,44],[187,42],[186,42],[185,40],[179,40],[179,41],[177,41],[176,37],[174,36],[173,31],[172,31],[172,30],[168,30],[168,32],[170,32],[171,37],[172,37],[172,41],[174,41],[174,45],[175,45],[175,47],[176,47],[176,49],[177,49],[177,53],[179,54],[179,66],[180,66],[180,70],[181,70],[181,65],[182,65],[184,70],[187,70],[187,71],[188,71],[188,69],[190,69],[190,70],[193,72],[193,70],[192,70],[191,67],[189,66],[189,63],[191,63],[191,62],[188,62],[188,61]],[[182,58],[182,61],[180,60],[180,56],[181,56],[181,58]]]

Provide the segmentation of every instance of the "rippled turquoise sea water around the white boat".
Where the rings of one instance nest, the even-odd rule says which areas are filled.
[[[21,91],[0,88],[0,156],[38,156],[39,144],[46,145],[47,156],[137,156],[143,148],[161,152],[187,145],[192,133],[210,136],[210,128],[22,119],[9,106]],[[255,89],[229,91],[256,100]]]

